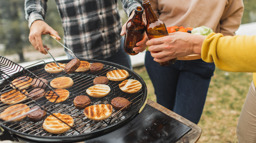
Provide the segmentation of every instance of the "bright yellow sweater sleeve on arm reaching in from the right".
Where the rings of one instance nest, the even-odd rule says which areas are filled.
[[[256,36],[209,34],[203,41],[202,59],[224,71],[256,72]]]

